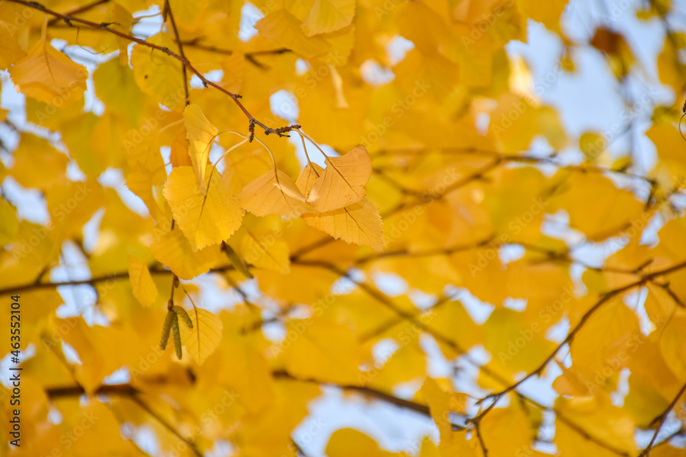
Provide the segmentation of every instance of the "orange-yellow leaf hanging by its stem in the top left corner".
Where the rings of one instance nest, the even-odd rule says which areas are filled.
[[[25,58],[10,67],[10,75],[24,95],[62,106],[83,97],[88,70],[38,40]]]

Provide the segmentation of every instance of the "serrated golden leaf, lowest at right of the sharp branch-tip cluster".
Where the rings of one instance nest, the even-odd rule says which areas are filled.
[[[366,198],[338,210],[303,214],[303,220],[333,238],[383,251],[381,216]]]

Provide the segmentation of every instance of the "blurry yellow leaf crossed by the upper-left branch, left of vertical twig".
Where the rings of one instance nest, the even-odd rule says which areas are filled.
[[[154,45],[176,49],[174,40],[164,32],[150,38]],[[167,106],[170,110],[180,110],[185,98],[181,64],[161,51],[135,45],[131,50],[131,66],[136,84],[155,101]]]

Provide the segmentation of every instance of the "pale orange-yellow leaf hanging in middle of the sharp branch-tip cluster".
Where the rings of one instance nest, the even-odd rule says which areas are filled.
[[[311,210],[305,196],[281,170],[270,170],[251,182],[238,195],[243,208],[255,216],[278,214],[298,217]]]

